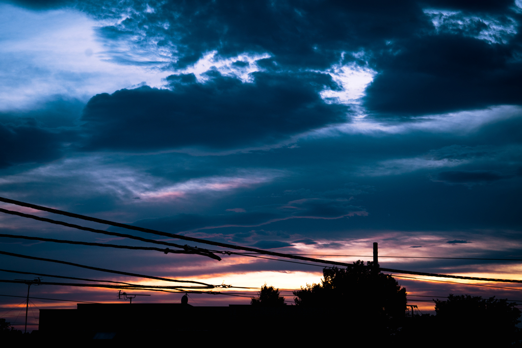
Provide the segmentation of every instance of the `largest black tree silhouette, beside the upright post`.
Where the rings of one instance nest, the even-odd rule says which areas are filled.
[[[384,330],[397,329],[405,317],[406,289],[373,262],[358,260],[353,267],[324,268],[321,284],[294,291],[294,302],[306,307],[342,309],[352,321],[371,321]],[[347,319],[348,320],[348,319]]]

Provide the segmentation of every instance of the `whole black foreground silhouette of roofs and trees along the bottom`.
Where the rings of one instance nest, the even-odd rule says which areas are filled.
[[[93,339],[176,344],[293,344],[508,347],[520,345],[520,310],[494,297],[455,296],[435,301],[436,315],[406,316],[406,289],[372,262],[325,268],[320,284],[307,284],[285,304],[266,284],[251,305],[227,307],[171,304],[78,304],[42,309],[32,334],[11,330],[0,319],[0,342],[82,342]]]

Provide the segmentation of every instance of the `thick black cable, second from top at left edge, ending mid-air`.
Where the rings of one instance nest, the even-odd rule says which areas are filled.
[[[137,241],[146,242],[146,243],[154,243],[154,244],[162,244],[162,245],[173,246],[173,247],[176,247],[176,248],[183,249],[183,250],[179,250],[180,253],[185,251],[184,254],[198,254],[198,255],[208,256],[208,257],[216,259],[218,261],[221,260],[221,258],[219,256],[212,254],[210,251],[208,251],[206,249],[193,248],[193,247],[189,247],[188,245],[179,245],[179,244],[174,244],[174,243],[169,243],[169,242],[155,241],[154,239],[137,237],[137,236],[133,236],[131,234],[124,234],[124,233],[117,233],[117,232],[109,232],[109,231],[104,231],[104,230],[91,229],[90,227],[85,227],[85,226],[75,225],[75,224],[71,224],[71,223],[67,223],[67,222],[63,222],[63,221],[57,221],[57,220],[42,218],[42,217],[39,217],[37,215],[25,214],[25,213],[21,213],[21,212],[18,212],[18,211],[12,211],[12,210],[2,209],[2,208],[0,208],[0,212],[6,213],[6,214],[11,214],[11,215],[17,215],[17,216],[22,217],[22,218],[28,218],[28,219],[33,219],[33,220],[38,220],[38,221],[43,221],[43,222],[49,222],[49,223],[56,224],[56,225],[72,227],[73,229],[78,229],[78,230],[82,230],[82,231],[101,233],[101,234],[105,234],[105,235],[109,235],[109,236],[123,237],[123,238],[129,238],[129,239],[136,239]]]

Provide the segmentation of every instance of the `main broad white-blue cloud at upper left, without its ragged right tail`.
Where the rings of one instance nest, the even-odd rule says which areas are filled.
[[[31,11],[0,5],[0,111],[28,109],[32,105],[67,95],[87,101],[92,95],[136,85],[163,85],[169,75],[159,71],[165,57],[158,52],[128,55],[142,65],[114,61],[97,36],[98,22],[73,9]],[[145,64],[146,62],[156,62]]]

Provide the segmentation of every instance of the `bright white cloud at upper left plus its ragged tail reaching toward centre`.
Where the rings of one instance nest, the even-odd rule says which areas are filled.
[[[147,5],[145,12],[154,10]],[[252,82],[250,74],[260,70],[256,61],[270,56],[243,53],[222,59],[212,51],[186,69],[165,69],[177,59],[176,48],[157,45],[161,37],[147,36],[145,30],[114,36],[103,31],[120,28],[135,13],[126,11],[94,20],[74,9],[32,11],[0,4],[0,111],[31,109],[57,95],[86,102],[94,94],[122,88],[161,88],[173,73],[194,73],[202,82],[212,68]],[[169,23],[158,26],[168,28]]]

